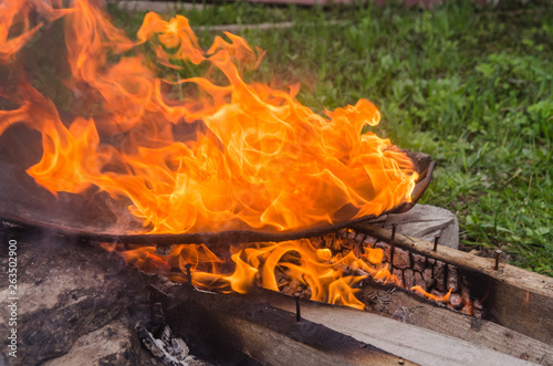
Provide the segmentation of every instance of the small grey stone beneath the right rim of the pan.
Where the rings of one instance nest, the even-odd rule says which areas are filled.
[[[405,213],[392,213],[386,218],[384,228],[434,242],[439,234],[439,244],[459,249],[459,222],[453,212],[429,205],[415,205]]]

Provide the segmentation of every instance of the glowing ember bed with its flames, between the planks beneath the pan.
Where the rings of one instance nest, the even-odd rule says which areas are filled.
[[[471,293],[471,281],[457,266],[393,248],[352,229],[299,241],[242,244],[230,250],[227,245],[212,247],[180,244],[163,253],[155,247],[129,250],[124,244],[104,244],[105,249],[117,251],[128,265],[199,289],[246,293],[257,285],[363,310],[372,307],[373,300],[363,302],[356,294],[362,281],[371,278],[450,310],[476,317],[483,315],[483,297]],[[472,302],[478,303],[476,310]]]

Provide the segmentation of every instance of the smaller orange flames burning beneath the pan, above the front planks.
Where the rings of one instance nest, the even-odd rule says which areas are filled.
[[[361,310],[365,304],[355,296],[359,281],[373,278],[382,283],[399,283],[387,264],[374,263],[375,257],[383,257],[380,249],[366,247],[359,258],[353,251],[333,254],[326,248],[315,249],[309,239],[225,248],[219,255],[205,244],[173,245],[165,255],[156,253],[155,247],[104,248],[116,250],[128,265],[161,273],[175,282],[188,282],[190,271],[191,284],[199,289],[238,293],[247,293],[252,285],[273,291],[286,289],[311,300]]]

